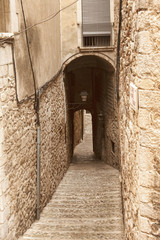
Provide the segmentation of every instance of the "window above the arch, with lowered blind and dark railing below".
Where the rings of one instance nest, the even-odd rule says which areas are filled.
[[[82,0],[83,46],[110,46],[110,0]]]

